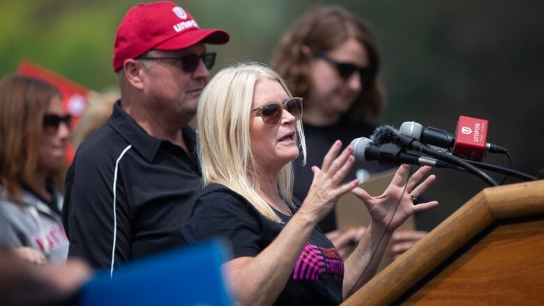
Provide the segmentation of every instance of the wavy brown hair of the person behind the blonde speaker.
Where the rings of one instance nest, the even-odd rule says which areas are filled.
[[[280,39],[271,66],[287,81],[294,95],[308,98],[311,88],[309,58],[302,52],[302,47],[310,47],[314,54],[329,52],[349,39],[365,46],[372,77],[347,114],[353,123],[376,119],[381,114],[385,99],[377,79],[379,54],[375,36],[365,20],[344,8],[318,6],[302,15]]]

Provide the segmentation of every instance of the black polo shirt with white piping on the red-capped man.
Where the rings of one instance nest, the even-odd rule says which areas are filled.
[[[69,257],[109,269],[182,244],[183,217],[202,189],[195,131],[182,131],[191,156],[151,137],[115,103],[68,169],[62,217]]]

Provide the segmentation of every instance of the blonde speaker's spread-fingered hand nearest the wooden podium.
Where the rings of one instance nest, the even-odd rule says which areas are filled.
[[[371,197],[361,188],[352,190],[359,199],[363,200],[372,217],[372,222],[386,231],[393,232],[413,213],[438,205],[438,201],[414,205],[414,199],[419,197],[435,181],[436,176],[428,176],[423,183],[416,186],[431,169],[431,167],[423,166],[410,176],[406,185],[402,185],[402,178],[409,167],[410,165],[401,165],[395,173],[393,181],[388,185],[384,194],[379,197]]]

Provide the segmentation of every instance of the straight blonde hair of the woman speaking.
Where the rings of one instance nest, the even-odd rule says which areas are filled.
[[[291,93],[280,75],[258,63],[243,63],[221,70],[204,88],[198,105],[198,153],[204,186],[219,183],[245,197],[269,220],[280,217],[259,195],[257,167],[250,150],[250,110],[258,79],[278,81]],[[306,146],[301,121],[296,122],[299,147],[305,162]],[[293,167],[278,174],[280,197],[293,207]]]

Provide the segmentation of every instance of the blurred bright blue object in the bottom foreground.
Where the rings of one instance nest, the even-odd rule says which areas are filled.
[[[78,294],[80,305],[232,305],[220,266],[225,247],[206,242],[98,273]]]

